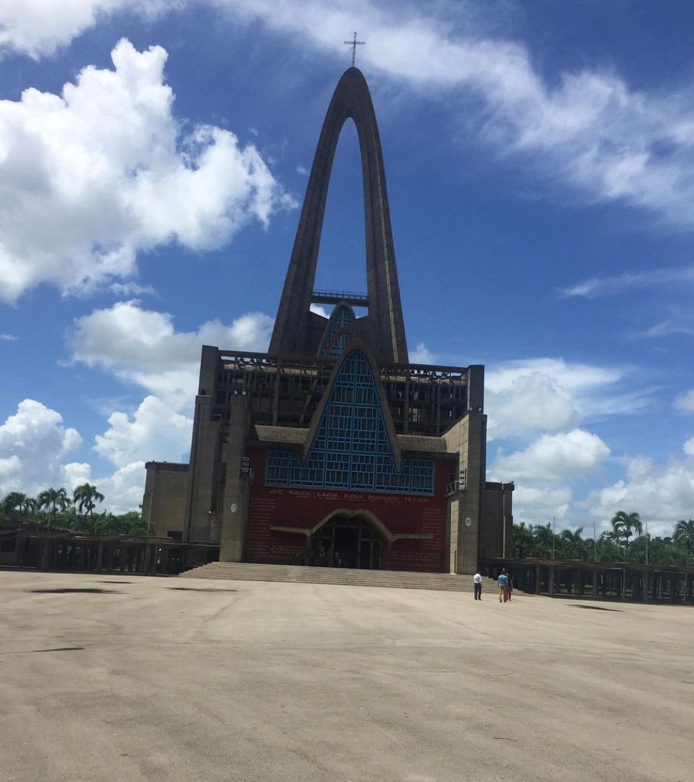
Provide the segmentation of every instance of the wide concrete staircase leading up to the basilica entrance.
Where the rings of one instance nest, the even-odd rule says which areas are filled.
[[[250,565],[246,562],[210,562],[209,565],[202,565],[181,573],[180,578],[351,584],[359,587],[399,587],[470,594],[473,591],[472,576],[453,576],[449,573],[307,568],[301,565]]]

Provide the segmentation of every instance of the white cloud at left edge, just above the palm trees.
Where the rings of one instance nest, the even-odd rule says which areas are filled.
[[[0,495],[62,486],[66,475],[61,462],[81,442],[77,429],[65,428],[58,412],[23,400],[0,425]]]

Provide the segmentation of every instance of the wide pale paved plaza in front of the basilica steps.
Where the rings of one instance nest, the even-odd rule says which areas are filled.
[[[0,572],[3,782],[689,782],[678,606]]]

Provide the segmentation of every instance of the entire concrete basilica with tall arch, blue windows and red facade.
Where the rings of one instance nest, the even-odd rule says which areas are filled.
[[[367,290],[317,290],[349,118]],[[485,477],[484,367],[408,358],[381,141],[355,67],[320,132],[269,350],[228,347],[202,347],[190,463],[146,465],[142,514],[156,535],[219,546],[220,561],[287,565],[472,573],[510,555],[513,483]]]

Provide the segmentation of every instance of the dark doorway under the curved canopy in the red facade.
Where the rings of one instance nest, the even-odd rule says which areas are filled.
[[[311,539],[317,564],[338,568],[377,570],[381,567],[381,539],[363,518],[337,516]]]

